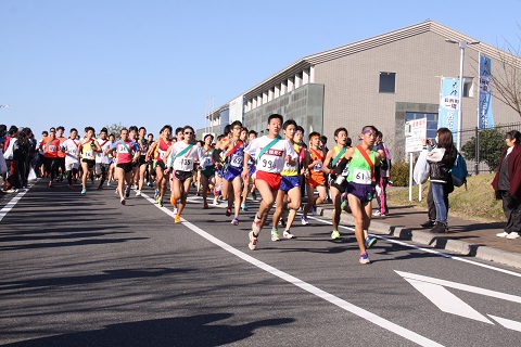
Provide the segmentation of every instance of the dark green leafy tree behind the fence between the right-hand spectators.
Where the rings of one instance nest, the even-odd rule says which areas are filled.
[[[499,166],[499,156],[505,149],[505,134],[496,129],[483,129],[479,133],[480,163],[488,165],[490,171]],[[462,147],[465,158],[475,160],[475,137],[472,137]]]

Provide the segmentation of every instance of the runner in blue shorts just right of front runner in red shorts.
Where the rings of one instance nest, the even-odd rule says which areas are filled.
[[[279,224],[279,220],[281,220],[281,216],[283,213],[288,211],[289,209],[292,213],[292,220],[288,220],[287,228],[282,236],[284,239],[293,239],[294,235],[290,232],[291,223],[295,218],[296,211],[301,208],[301,181],[298,179],[298,154],[301,149],[296,143],[293,142],[296,131],[296,123],[293,119],[285,120],[282,125],[282,129],[284,131],[285,141],[293,145],[294,157],[294,165],[290,163],[284,164],[284,168],[280,172],[282,177],[282,181],[277,192],[277,208],[274,214],[274,223],[271,228],[271,241],[279,241],[279,232],[277,230],[277,226]],[[287,198],[287,202],[284,202]]]

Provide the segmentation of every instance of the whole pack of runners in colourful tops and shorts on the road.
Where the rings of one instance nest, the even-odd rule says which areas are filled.
[[[217,139],[208,133],[196,142],[190,126],[176,129],[173,137],[173,128],[165,125],[155,141],[153,136],[147,136],[144,127],[124,128],[117,137],[103,128],[98,138],[92,127],[85,128],[84,137],[71,129],[68,138],[63,137],[64,129],[59,127],[50,129],[39,147],[46,172],[50,174],[49,187],[58,168],[65,172],[69,189],[75,178],[81,178],[81,194],[87,193],[89,177],[97,176],[101,189],[105,181],[111,185],[113,172],[116,192],[125,205],[131,188],[139,196],[144,182],[151,184],[155,178],[157,206],[164,207],[169,188],[176,223],[181,222],[191,187],[198,188],[198,195],[201,193],[204,209],[209,208],[208,194],[214,194],[214,205],[227,201],[226,215],[232,216],[233,226],[239,224],[241,209],[247,210],[249,193],[255,194],[256,189],[262,201],[249,233],[252,250],[257,247],[259,232],[274,205],[271,240],[280,240],[281,224],[284,227],[282,237],[295,237],[291,227],[302,207],[302,181],[307,190],[302,224],[309,223],[308,213],[326,200],[329,187],[334,206],[331,237],[341,237],[340,215],[348,205],[355,218],[359,261],[369,264],[367,248],[376,243],[376,239],[368,235],[371,201],[376,195],[374,172],[385,158],[381,150],[373,149],[378,130],[373,126],[364,127],[360,144],[351,146],[347,130],[338,128],[335,145],[328,152],[319,145],[318,132],[309,133],[306,145],[304,129],[292,119],[283,121],[281,115],[268,117],[267,130],[267,134],[257,138],[257,133],[247,131],[241,121],[233,121]]]

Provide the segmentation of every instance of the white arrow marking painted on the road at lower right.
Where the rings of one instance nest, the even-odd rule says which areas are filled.
[[[474,310],[467,303],[458,298],[453,293],[448,292],[445,287],[452,287],[455,290],[460,290],[465,292],[470,292],[474,294],[485,295],[495,297],[503,300],[513,301],[521,304],[521,296],[505,294],[500,292],[490,291],[480,288],[472,285],[466,285],[461,283],[450,282],[439,280],[434,278],[429,278],[421,274],[415,274],[409,272],[396,271],[397,274],[403,277],[407,282],[409,282],[418,292],[436,305],[442,311],[461,316],[465,318],[478,320],[484,323],[494,324],[486,317]],[[495,317],[488,314],[492,319],[497,321],[499,324],[507,329],[516,330],[521,332],[521,323],[512,321],[506,318]]]

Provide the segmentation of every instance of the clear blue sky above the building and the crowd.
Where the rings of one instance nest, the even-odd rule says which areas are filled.
[[[204,128],[304,56],[425,20],[518,47],[520,13],[521,0],[0,0],[0,124]]]

